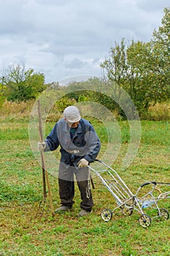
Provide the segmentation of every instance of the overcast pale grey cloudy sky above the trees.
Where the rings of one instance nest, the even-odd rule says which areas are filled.
[[[109,49],[150,41],[169,0],[0,0],[0,72],[25,64],[46,83],[101,76]]]

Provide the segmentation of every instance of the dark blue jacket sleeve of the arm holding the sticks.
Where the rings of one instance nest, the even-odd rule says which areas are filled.
[[[45,142],[47,144],[45,151],[54,151],[59,146],[57,126],[58,126],[58,124],[55,124],[55,127],[53,127],[50,134],[47,135],[47,138],[45,140]]]

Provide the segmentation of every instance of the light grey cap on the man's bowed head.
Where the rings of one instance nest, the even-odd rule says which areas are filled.
[[[66,118],[70,123],[80,121],[81,116],[78,108],[69,106],[63,111],[63,118]]]

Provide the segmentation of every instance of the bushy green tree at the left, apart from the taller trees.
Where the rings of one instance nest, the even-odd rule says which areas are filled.
[[[34,69],[26,69],[24,65],[11,64],[4,71],[4,85],[7,86],[7,99],[12,101],[25,101],[35,99],[44,91],[45,75],[35,73]]]

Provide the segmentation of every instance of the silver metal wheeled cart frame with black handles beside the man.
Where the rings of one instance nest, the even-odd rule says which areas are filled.
[[[126,216],[130,216],[133,211],[136,210],[140,214],[139,225],[142,227],[149,227],[151,220],[158,217],[162,217],[162,219],[169,219],[169,211],[165,208],[159,208],[158,201],[169,197],[170,191],[161,193],[161,189],[158,189],[157,187],[158,184],[170,185],[169,183],[148,181],[143,183],[134,194],[125,184],[123,179],[117,174],[117,172],[112,169],[112,167],[99,159],[96,159],[95,161],[101,163],[101,165],[104,166],[104,169],[98,171],[89,165],[90,170],[93,171],[93,173],[96,173],[96,176],[100,178],[104,186],[107,187],[109,192],[113,195],[113,197],[115,197],[115,201],[117,203],[117,206],[112,211],[108,208],[105,208],[103,211],[101,211],[101,218],[105,222],[108,222],[110,219],[112,219],[112,215],[117,209],[120,209],[123,215]],[[103,176],[101,176],[100,173],[102,173]],[[148,187],[149,185],[151,187],[149,192],[140,197],[139,192],[141,192],[144,187]],[[154,195],[155,191],[158,192],[157,196]],[[151,218],[146,214],[145,211],[149,207],[157,210],[156,216]]]

